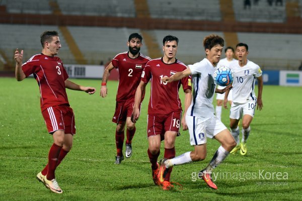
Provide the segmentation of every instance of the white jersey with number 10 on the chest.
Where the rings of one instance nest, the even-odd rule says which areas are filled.
[[[233,81],[233,103],[244,104],[256,99],[255,79],[262,75],[260,67],[252,61],[240,67],[238,61],[231,63],[230,68],[234,73]]]

